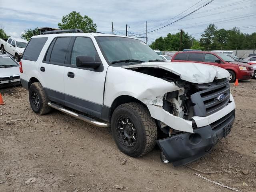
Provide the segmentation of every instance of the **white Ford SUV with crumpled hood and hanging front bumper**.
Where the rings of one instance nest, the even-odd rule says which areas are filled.
[[[111,126],[129,156],[157,143],[163,162],[180,166],[208,154],[235,116],[228,71],[164,62],[141,40],[58,30],[34,36],[20,62],[32,110],[51,108]]]

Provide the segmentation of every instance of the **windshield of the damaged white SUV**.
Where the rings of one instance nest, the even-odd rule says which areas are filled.
[[[129,60],[129,65],[131,62],[133,63],[132,60],[140,60],[141,62],[148,62],[150,60],[162,61],[162,58],[160,58],[154,50],[143,41],[137,39],[102,36],[96,37],[96,40],[109,64],[123,64],[125,60]],[[134,64],[138,64],[138,62],[134,62]]]

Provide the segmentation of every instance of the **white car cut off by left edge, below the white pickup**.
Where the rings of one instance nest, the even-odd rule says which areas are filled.
[[[7,84],[20,84],[19,65],[13,58],[0,54],[0,87]]]

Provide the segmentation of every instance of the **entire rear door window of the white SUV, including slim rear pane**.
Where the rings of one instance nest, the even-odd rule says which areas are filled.
[[[45,60],[64,64],[70,40],[71,37],[58,37],[54,39],[48,49]]]

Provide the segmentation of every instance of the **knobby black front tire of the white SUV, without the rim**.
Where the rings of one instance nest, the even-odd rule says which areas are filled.
[[[130,118],[137,130],[137,140],[132,147],[125,146],[118,133],[118,120],[122,116]],[[150,152],[157,140],[155,120],[150,116],[146,106],[136,102],[122,104],[114,110],[111,119],[111,131],[119,150],[132,157],[139,157]]]

